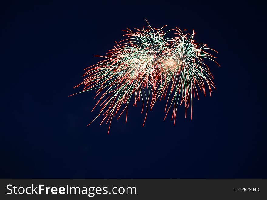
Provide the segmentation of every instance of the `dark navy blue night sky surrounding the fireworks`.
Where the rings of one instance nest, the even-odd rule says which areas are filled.
[[[1,6],[1,178],[267,178],[266,22],[253,3],[93,5],[10,2]],[[73,89],[83,69],[122,30],[168,25],[196,32],[218,51],[208,62],[216,90],[179,107],[128,110],[99,125],[94,92]],[[166,29],[165,29],[166,30]]]

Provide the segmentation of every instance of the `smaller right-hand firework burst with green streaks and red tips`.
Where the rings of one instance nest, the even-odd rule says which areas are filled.
[[[206,87],[210,96],[212,88],[215,89],[211,72],[203,62],[203,59],[206,58],[214,61],[213,58],[215,57],[205,52],[212,49],[208,48],[206,44],[195,43],[193,40],[194,30],[192,35],[186,34],[185,30],[182,32],[178,28],[176,31],[177,37],[171,40],[170,55],[167,65],[164,65],[165,79],[163,87],[165,91],[170,87],[165,108],[165,118],[173,106],[172,119],[174,119],[174,124],[178,105],[184,104],[186,117],[186,110],[191,104],[192,119],[192,98],[195,96],[199,98],[198,89],[203,91],[205,96],[207,93]],[[163,94],[165,93],[163,92]]]

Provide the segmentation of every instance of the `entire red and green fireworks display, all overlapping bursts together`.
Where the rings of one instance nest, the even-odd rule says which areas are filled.
[[[206,96],[207,89],[209,95],[211,89],[215,89],[211,72],[203,63],[203,58],[214,61],[215,57],[205,52],[212,49],[206,44],[196,44],[194,31],[189,35],[176,27],[176,30],[169,30],[175,31],[175,37],[165,38],[169,31],[164,33],[163,28],[149,25],[136,32],[127,29],[124,35],[127,39],[116,43],[106,56],[100,56],[104,58],[102,61],[86,68],[85,79],[76,86],[84,85],[82,92],[96,91],[95,98],[99,97],[99,100],[95,107],[100,106],[96,118],[103,115],[100,124],[109,123],[108,132],[113,117],[119,119],[126,112],[127,122],[131,99],[134,106],[137,102],[142,103],[141,113],[146,113],[144,122],[148,107],[152,109],[158,99],[167,99],[165,118],[172,112],[175,124],[178,105],[184,104],[185,117],[191,106],[192,119],[192,98],[198,98],[198,90]]]

